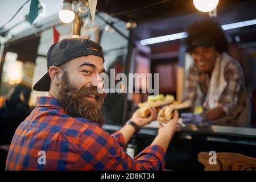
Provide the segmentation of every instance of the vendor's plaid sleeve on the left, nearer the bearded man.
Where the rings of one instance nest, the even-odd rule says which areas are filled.
[[[191,65],[185,81],[185,100],[193,104],[196,99],[197,71],[195,65]]]

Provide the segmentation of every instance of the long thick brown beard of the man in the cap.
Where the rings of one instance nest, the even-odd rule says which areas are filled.
[[[85,100],[85,96],[89,95],[95,95],[95,100]],[[101,111],[101,106],[105,97],[105,93],[98,93],[96,86],[82,86],[81,89],[77,90],[71,85],[68,73],[64,72],[60,81],[58,101],[68,115],[76,118],[89,119],[102,126],[104,115]]]

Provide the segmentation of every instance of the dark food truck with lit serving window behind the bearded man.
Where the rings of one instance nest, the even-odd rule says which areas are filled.
[[[114,85],[110,85],[102,107],[105,115],[102,127],[114,133],[149,100],[158,98],[158,101],[163,101],[169,97],[183,103],[187,92],[185,80],[193,64],[185,44],[186,31],[191,24],[204,19],[214,20],[221,25],[229,42],[229,55],[241,64],[248,90],[248,119],[245,118],[246,125],[243,126],[214,123],[197,126],[183,125],[181,122],[166,152],[165,169],[255,170],[255,1],[220,1],[217,8],[202,13],[195,8],[193,1],[104,0],[97,2],[93,21],[88,5],[87,9],[82,9],[84,6],[81,6],[81,2],[84,1],[71,1],[78,12],[71,23],[61,22],[58,14],[53,14],[13,36],[8,36],[8,32],[7,35],[1,34],[0,106],[6,106],[6,101],[10,99],[13,101],[10,102],[9,114],[0,116],[1,170],[5,169],[7,152],[16,128],[34,109],[36,96],[47,96],[47,92],[36,92],[32,86],[47,72],[47,51],[56,35],[57,40],[78,36],[100,44],[104,49],[104,67],[109,77],[115,77],[118,73],[154,75],[151,86],[154,91],[158,86],[158,94],[142,92],[147,85],[129,77],[127,89],[130,87],[131,93],[111,92],[115,90],[118,79]],[[155,81],[154,78],[158,79]],[[197,106],[193,112],[202,113],[202,103],[195,102]],[[181,108],[179,113],[187,112],[186,109]],[[127,154],[134,157],[150,145],[158,134],[158,127],[159,121],[142,127],[127,144]],[[220,158],[216,166],[211,166],[208,159],[214,154]],[[240,163],[234,160],[240,158]]]

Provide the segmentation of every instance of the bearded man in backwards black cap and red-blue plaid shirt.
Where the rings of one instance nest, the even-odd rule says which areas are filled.
[[[70,38],[53,44],[47,53],[48,72],[34,90],[47,91],[16,129],[6,170],[158,170],[177,126],[174,119],[160,126],[158,135],[132,159],[124,151],[140,127],[156,118],[135,111],[119,131],[104,129],[101,106],[106,97],[98,92],[102,83],[102,48],[89,39]],[[114,106],[113,106],[114,109]]]

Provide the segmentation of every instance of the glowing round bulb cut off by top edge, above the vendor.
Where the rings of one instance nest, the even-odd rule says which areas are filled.
[[[219,0],[193,0],[193,4],[197,10],[209,12],[217,7],[218,1]]]

